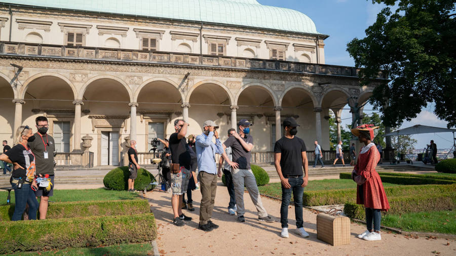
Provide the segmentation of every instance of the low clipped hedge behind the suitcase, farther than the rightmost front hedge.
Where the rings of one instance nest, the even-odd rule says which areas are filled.
[[[445,192],[456,193],[456,184],[451,185],[418,185],[385,188],[387,197],[439,194]],[[317,190],[305,191],[303,205],[330,205],[346,202],[356,202],[356,189]]]

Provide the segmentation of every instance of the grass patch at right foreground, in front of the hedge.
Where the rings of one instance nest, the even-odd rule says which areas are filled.
[[[404,231],[456,234],[456,210],[424,211],[412,214],[386,215],[382,225]]]

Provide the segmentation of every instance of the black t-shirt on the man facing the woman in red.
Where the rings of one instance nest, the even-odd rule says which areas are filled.
[[[303,174],[302,152],[306,152],[306,144],[296,136],[293,139],[284,136],[276,141],[274,153],[281,153],[280,167],[284,176]]]

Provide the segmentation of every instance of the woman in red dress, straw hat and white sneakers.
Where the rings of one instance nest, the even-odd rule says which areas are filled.
[[[380,159],[380,153],[372,142],[374,130],[377,128],[378,126],[365,124],[352,129],[352,134],[359,138],[360,143],[364,143],[364,147],[358,155],[358,162],[353,169],[352,179],[358,184],[356,203],[364,204],[366,208],[367,230],[358,235],[358,238],[368,241],[382,239],[380,235],[381,211],[387,211],[390,208],[382,180],[375,170]]]

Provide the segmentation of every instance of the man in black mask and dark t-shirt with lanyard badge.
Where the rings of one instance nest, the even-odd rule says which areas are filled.
[[[40,197],[40,220],[46,219],[48,212],[49,197],[54,194],[54,138],[48,135],[48,118],[39,116],[35,118],[36,128],[38,132],[34,134],[35,139],[28,142],[28,146],[35,155],[36,173],[38,178],[48,176],[49,186],[39,188],[35,191],[35,196]],[[40,185],[40,184],[39,184]]]

